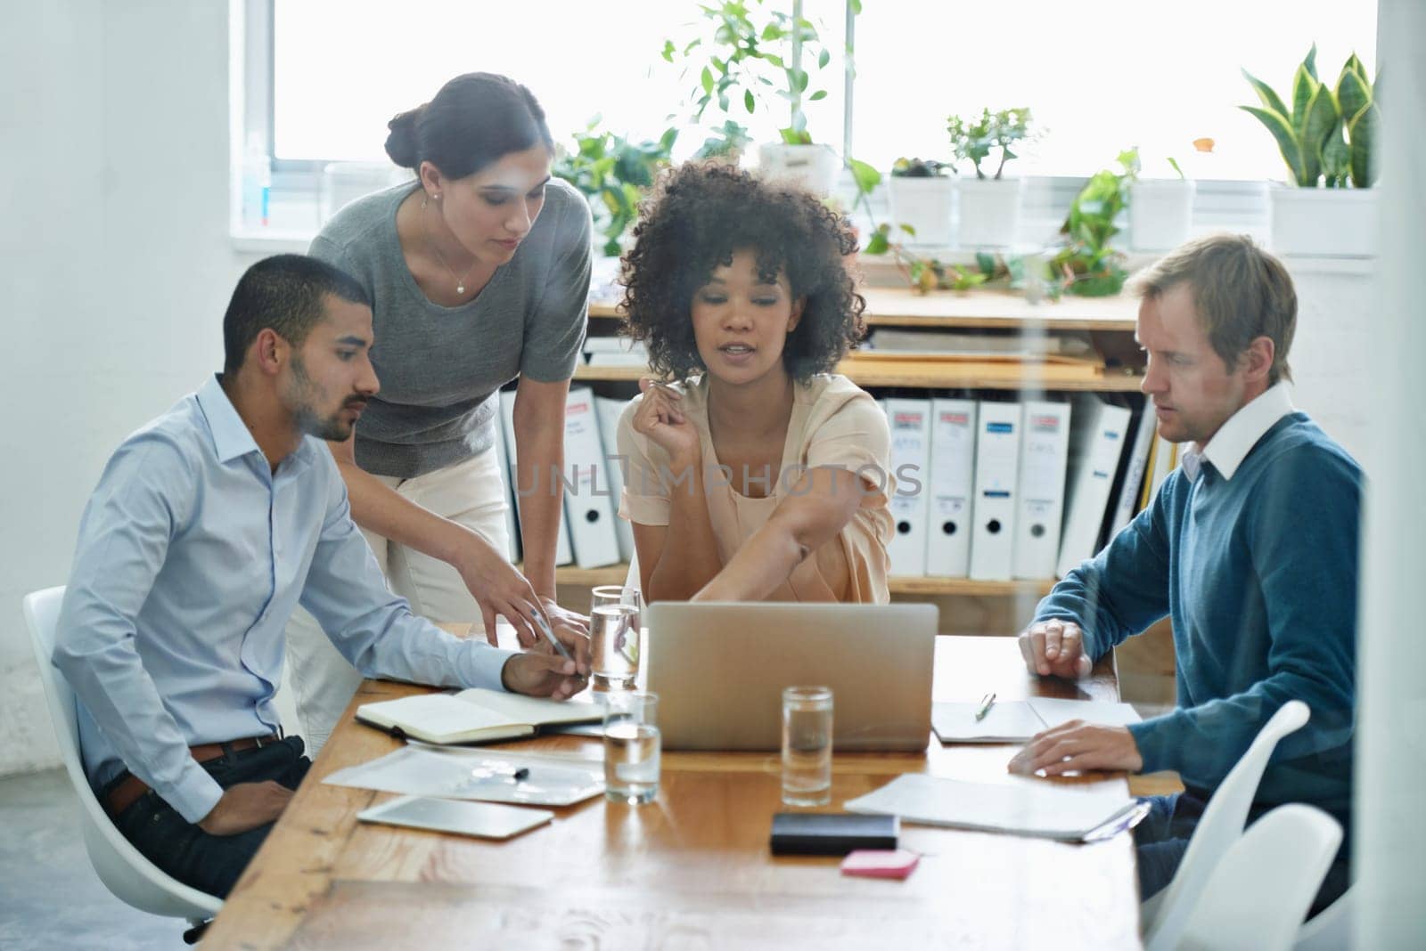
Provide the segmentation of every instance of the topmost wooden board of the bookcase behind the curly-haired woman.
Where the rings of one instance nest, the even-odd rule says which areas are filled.
[[[1134,298],[1071,298],[1030,303],[1004,290],[937,290],[863,288],[868,326],[983,327],[1000,330],[1119,330],[1132,332],[1139,303]],[[590,317],[617,317],[612,303],[589,306]]]

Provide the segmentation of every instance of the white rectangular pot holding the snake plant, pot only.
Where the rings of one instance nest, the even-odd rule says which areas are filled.
[[[1378,189],[1291,188],[1268,192],[1271,248],[1279,255],[1376,255]]]

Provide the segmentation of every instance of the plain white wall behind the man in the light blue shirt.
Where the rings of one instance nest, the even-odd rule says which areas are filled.
[[[63,584],[114,446],[222,362],[222,0],[6,4],[0,28],[0,774],[57,762],[20,615]]]

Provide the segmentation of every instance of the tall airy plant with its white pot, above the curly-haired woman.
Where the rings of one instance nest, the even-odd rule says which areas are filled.
[[[724,115],[723,130],[732,125],[746,132],[732,121],[734,112],[753,117],[759,110],[771,114],[787,108],[780,141],[759,145],[759,167],[767,175],[796,178],[830,195],[841,159],[831,147],[813,142],[803,111],[804,103],[827,98],[820,75],[831,63],[831,51],[817,26],[797,13],[769,10],[763,0],[719,0],[699,9],[703,33],[682,47],[672,40],[663,44],[666,61],[682,58],[686,74],[697,68],[697,85],[690,95],[694,121],[702,122],[716,108]],[[714,130],[714,138],[717,134]],[[710,142],[704,148],[719,151]]]

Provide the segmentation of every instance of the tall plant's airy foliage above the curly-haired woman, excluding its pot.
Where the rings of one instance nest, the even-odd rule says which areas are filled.
[[[860,3],[853,9],[860,11]],[[776,0],[767,6],[764,0],[719,0],[699,10],[699,34],[682,44],[665,40],[662,53],[667,63],[682,61],[684,75],[696,77],[689,97],[694,121],[703,121],[710,108],[732,120],[739,111],[754,115],[759,108],[771,112],[786,105],[781,140],[810,144],[803,104],[827,98],[821,73],[831,63],[817,26],[779,9]]]

